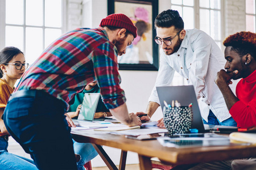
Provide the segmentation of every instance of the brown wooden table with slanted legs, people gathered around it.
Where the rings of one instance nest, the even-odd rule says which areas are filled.
[[[163,147],[157,140],[137,141],[127,139],[124,135],[84,134],[82,131],[72,132],[73,139],[80,143],[92,143],[109,169],[117,169],[117,167],[115,167],[101,146],[122,150],[119,169],[125,169],[127,151],[138,153],[139,164],[142,170],[152,169],[151,158],[154,157],[170,165],[180,165],[256,156],[256,145],[173,148]]]

